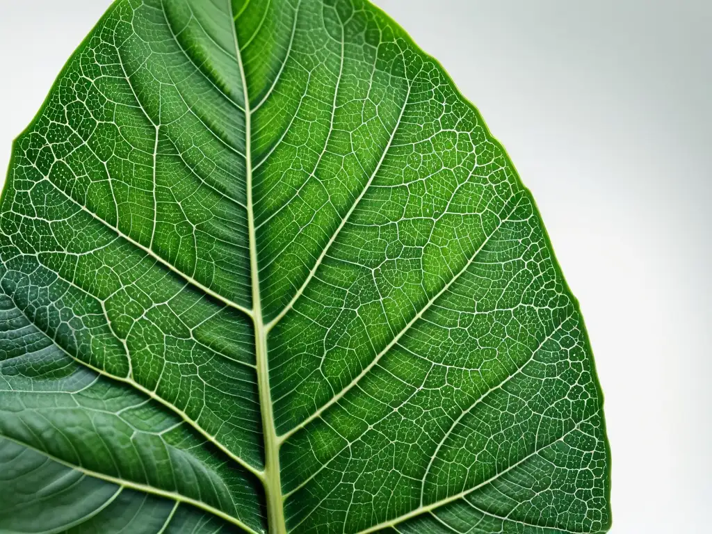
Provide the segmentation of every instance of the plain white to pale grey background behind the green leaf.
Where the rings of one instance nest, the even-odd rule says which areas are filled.
[[[108,4],[0,0],[0,168]],[[538,201],[604,389],[611,533],[711,533],[712,2],[377,4]]]

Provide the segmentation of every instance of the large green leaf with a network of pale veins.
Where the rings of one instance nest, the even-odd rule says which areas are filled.
[[[0,530],[600,533],[527,189],[362,0],[118,0],[0,208]]]

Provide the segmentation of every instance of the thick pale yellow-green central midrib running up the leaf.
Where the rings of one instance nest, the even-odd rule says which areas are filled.
[[[228,0],[232,14],[232,3]],[[234,16],[233,16],[234,19]],[[255,331],[255,358],[257,367],[257,389],[259,394],[260,409],[262,414],[262,435],[265,448],[265,467],[262,484],[265,490],[267,503],[267,522],[270,534],[286,534],[284,518],[284,499],[282,496],[282,483],[279,467],[279,445],[274,412],[272,408],[272,394],[269,385],[269,365],[267,361],[267,330],[262,317],[262,303],[260,298],[259,268],[257,265],[257,244],[255,236],[255,217],[252,201],[252,152],[251,152],[251,110],[250,98],[247,90],[247,78],[242,63],[239,41],[237,38],[237,21],[234,21],[233,36],[235,53],[240,69],[240,77],[244,98],[245,110],[245,174],[247,189],[247,227],[250,248],[250,279],[252,284],[252,321]]]

